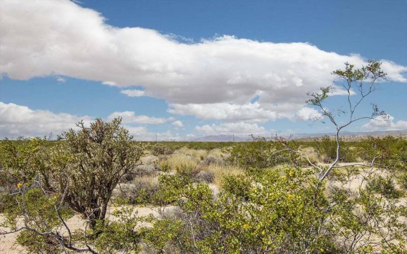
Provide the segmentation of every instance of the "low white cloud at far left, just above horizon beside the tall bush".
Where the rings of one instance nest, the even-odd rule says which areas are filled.
[[[54,136],[75,128],[80,120],[92,121],[90,116],[53,113],[48,110],[33,110],[14,103],[0,102],[0,138],[18,136]]]

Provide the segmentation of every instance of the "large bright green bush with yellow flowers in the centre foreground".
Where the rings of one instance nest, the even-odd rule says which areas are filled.
[[[148,235],[167,232],[167,243],[180,252],[335,251],[330,238],[318,233],[327,205],[321,189],[304,184],[311,179],[311,172],[294,168],[250,171],[225,178],[214,199],[207,184],[172,175],[163,192],[180,210],[154,224]],[[166,248],[162,241],[148,243],[158,251]]]

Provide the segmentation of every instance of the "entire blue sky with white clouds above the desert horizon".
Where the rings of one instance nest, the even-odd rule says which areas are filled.
[[[405,0],[0,0],[0,138],[118,116],[136,140],[330,133],[306,93],[343,109],[331,73],[368,59],[389,78],[358,116],[389,118],[345,131],[407,130],[405,31]]]

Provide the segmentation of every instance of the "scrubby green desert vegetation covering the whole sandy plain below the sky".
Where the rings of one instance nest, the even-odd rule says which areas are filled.
[[[309,103],[336,136],[312,141],[146,144],[120,119],[3,140],[0,234],[32,253],[406,253],[407,139],[342,141],[330,89]]]

